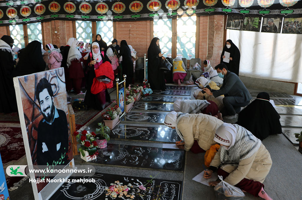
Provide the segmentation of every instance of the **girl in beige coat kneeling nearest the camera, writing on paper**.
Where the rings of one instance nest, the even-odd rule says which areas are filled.
[[[219,168],[217,174],[223,176],[223,181],[256,197],[271,200],[263,190],[262,182],[271,169],[272,161],[261,140],[237,124],[224,123],[217,128],[214,141],[222,148],[215,154],[209,170],[204,172],[204,178],[210,178]],[[218,183],[212,181],[209,185]]]

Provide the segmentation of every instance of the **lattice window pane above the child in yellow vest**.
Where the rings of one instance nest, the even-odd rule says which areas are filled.
[[[196,16],[177,18],[177,56],[195,58]]]

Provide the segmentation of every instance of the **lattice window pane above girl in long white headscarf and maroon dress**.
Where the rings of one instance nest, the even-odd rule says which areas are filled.
[[[91,21],[76,21],[76,38],[84,43],[92,42]]]

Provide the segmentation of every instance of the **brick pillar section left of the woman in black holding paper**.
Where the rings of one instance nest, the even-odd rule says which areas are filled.
[[[223,49],[224,15],[201,16],[199,24],[199,58],[210,60],[214,67],[220,63]]]

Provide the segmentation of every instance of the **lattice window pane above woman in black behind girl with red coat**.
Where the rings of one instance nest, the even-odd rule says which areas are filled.
[[[102,40],[107,43],[107,45],[111,44],[113,40],[113,22],[112,21],[97,21],[96,22],[96,34],[100,34]],[[95,40],[95,38],[93,38]]]

